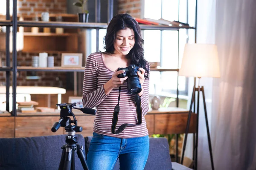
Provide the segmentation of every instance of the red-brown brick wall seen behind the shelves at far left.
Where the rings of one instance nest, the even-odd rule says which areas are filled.
[[[17,9],[19,15],[41,14],[47,11],[54,13],[67,13],[66,0],[18,0]],[[42,51],[43,52],[43,51]],[[38,53],[17,52],[18,66],[31,66],[32,56],[38,56]],[[5,52],[0,52],[0,57],[5,62]],[[48,54],[54,56],[55,66],[61,66],[61,54]],[[12,58],[12,54],[10,56]],[[11,61],[12,65],[12,61]],[[12,73],[11,73],[12,74]],[[39,80],[26,79],[27,76],[37,75]],[[56,79],[57,77],[57,79]],[[0,85],[5,85],[5,72],[0,72]],[[12,84],[12,77],[11,77]],[[27,72],[19,71],[17,74],[17,85],[25,86],[54,86],[64,87],[66,84],[66,73],[64,72]]]

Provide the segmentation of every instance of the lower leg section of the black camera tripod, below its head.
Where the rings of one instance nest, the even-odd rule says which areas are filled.
[[[77,137],[75,136],[75,131],[66,131],[66,143],[64,144],[61,154],[61,161],[59,164],[59,170],[75,170],[75,152],[79,157],[81,164],[84,170],[88,170],[86,161],[85,161],[85,153],[83,146],[77,144]]]

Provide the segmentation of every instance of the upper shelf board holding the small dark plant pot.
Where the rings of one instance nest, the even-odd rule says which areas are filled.
[[[79,22],[43,22],[43,21],[17,21],[18,26],[24,27],[62,27],[62,28],[102,28],[108,27],[107,23],[79,23]]]

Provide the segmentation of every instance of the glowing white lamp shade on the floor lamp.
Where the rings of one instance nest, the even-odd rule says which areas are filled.
[[[213,44],[186,44],[179,76],[220,77],[217,46]]]

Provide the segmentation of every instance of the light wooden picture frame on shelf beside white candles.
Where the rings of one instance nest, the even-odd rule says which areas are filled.
[[[82,53],[62,53],[61,67],[81,67]]]

